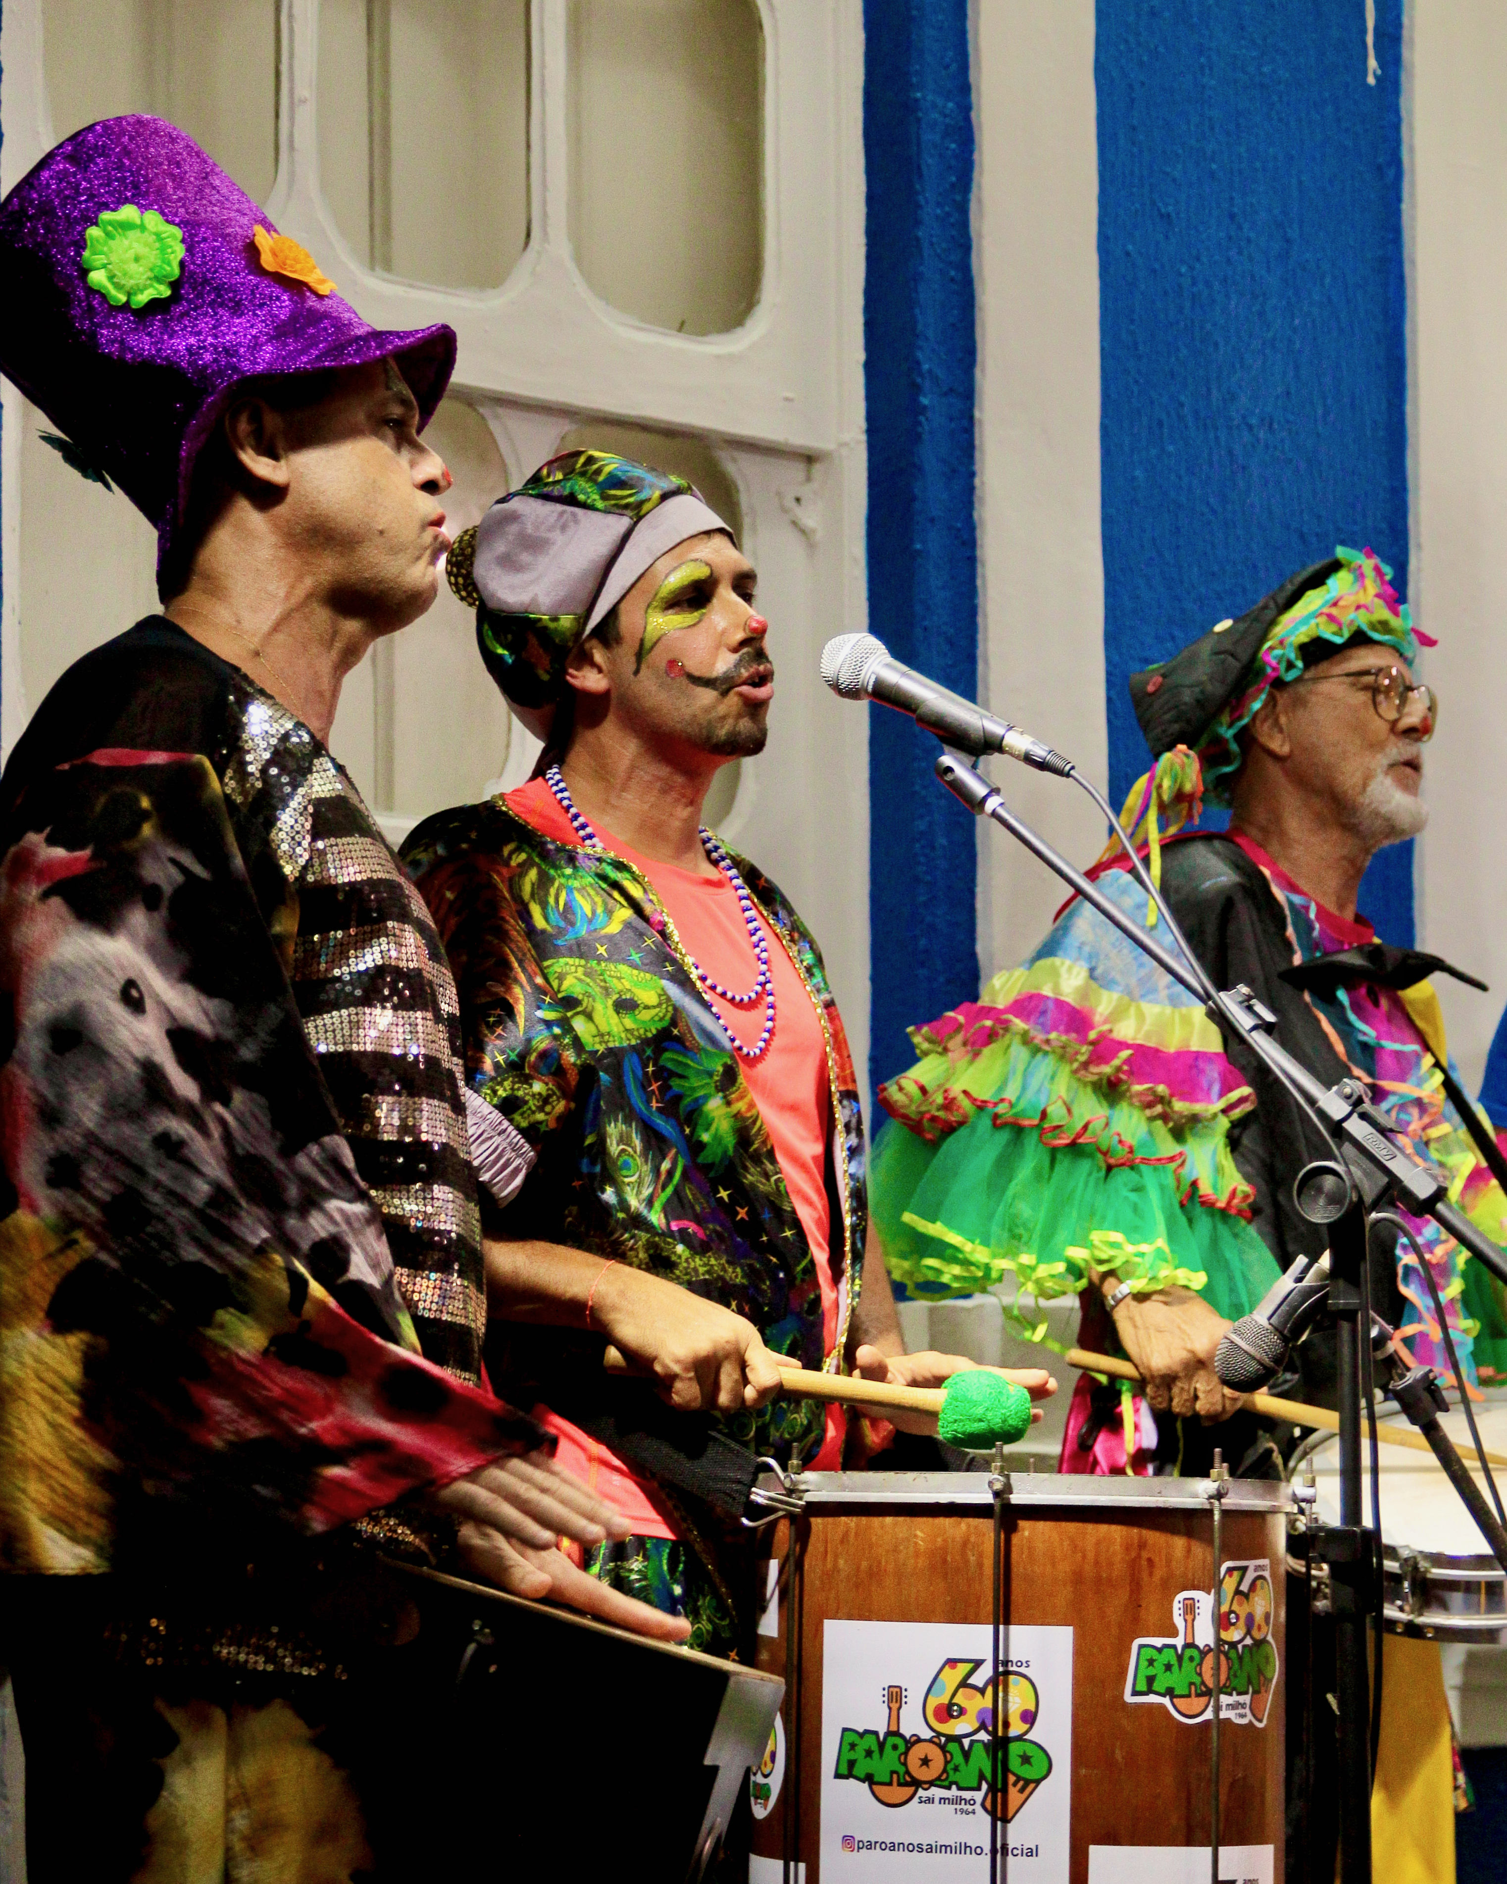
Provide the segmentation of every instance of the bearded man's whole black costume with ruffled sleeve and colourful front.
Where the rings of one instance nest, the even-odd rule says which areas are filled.
[[[1243,982],[1277,1015],[1277,1038],[1326,1085],[1347,1074],[1420,1151],[1492,1236],[1507,1200],[1490,1181],[1417,1040],[1379,1044],[1341,991],[1307,997],[1283,970],[1330,953],[1315,906],[1285,895],[1230,838],[1162,846],[1162,895],[1219,987]],[[1145,923],[1128,870],[1100,887]],[[1426,991],[1409,991],[1418,1006]],[[1402,1010],[1398,1010],[1402,1012]],[[1078,1292],[1089,1264],[1142,1289],[1200,1289],[1226,1317],[1251,1309],[1277,1266],[1319,1255],[1322,1226],[1292,1178],[1328,1153],[1298,1104],[1240,1042],[1096,910],[1070,902],[1023,968],[976,1004],[916,1031],[923,1059],[882,1100],[897,1121],[876,1147],[874,1211],[891,1270],[957,1294],[1015,1274],[1038,1298]],[[1398,1059],[1405,1053],[1407,1064]],[[1418,1226],[1471,1368],[1483,1313],[1507,1326],[1499,1289],[1435,1226]],[[1373,1304],[1445,1364],[1411,1255],[1373,1236]],[[1469,1304],[1462,1304],[1469,1289]],[[1496,1340],[1496,1336],[1494,1336]],[[1334,1343],[1298,1351],[1304,1398],[1334,1392]]]

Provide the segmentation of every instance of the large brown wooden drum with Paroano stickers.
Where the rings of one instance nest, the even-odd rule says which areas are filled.
[[[1279,1884],[1290,1498],[1224,1492],[1215,1603],[1198,1481],[1008,1477],[997,1684],[989,1477],[808,1473],[763,1569],[750,1884],[983,1880],[991,1818],[1000,1876],[1207,1876],[1215,1616],[1219,1875]]]

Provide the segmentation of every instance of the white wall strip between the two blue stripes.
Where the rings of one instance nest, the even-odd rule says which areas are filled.
[[[1094,0],[983,0],[976,41],[981,680],[1104,784],[1098,529],[1098,134]],[[1000,759],[1010,804],[1083,865],[1089,799]],[[985,980],[1042,938],[1064,889],[980,825]]]

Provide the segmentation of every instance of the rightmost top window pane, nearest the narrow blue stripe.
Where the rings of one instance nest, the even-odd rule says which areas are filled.
[[[763,275],[754,0],[571,0],[571,243],[612,307],[727,333]]]

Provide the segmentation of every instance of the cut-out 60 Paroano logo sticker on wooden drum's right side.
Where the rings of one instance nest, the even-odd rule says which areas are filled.
[[[1224,1564],[1219,1577],[1219,1718],[1266,1726],[1277,1690],[1272,1641],[1272,1562]],[[1172,1600],[1174,1635],[1142,1635],[1130,1645],[1125,1699],[1166,1707],[1192,1726],[1213,1714],[1213,1628],[1209,1592],[1179,1590]]]

